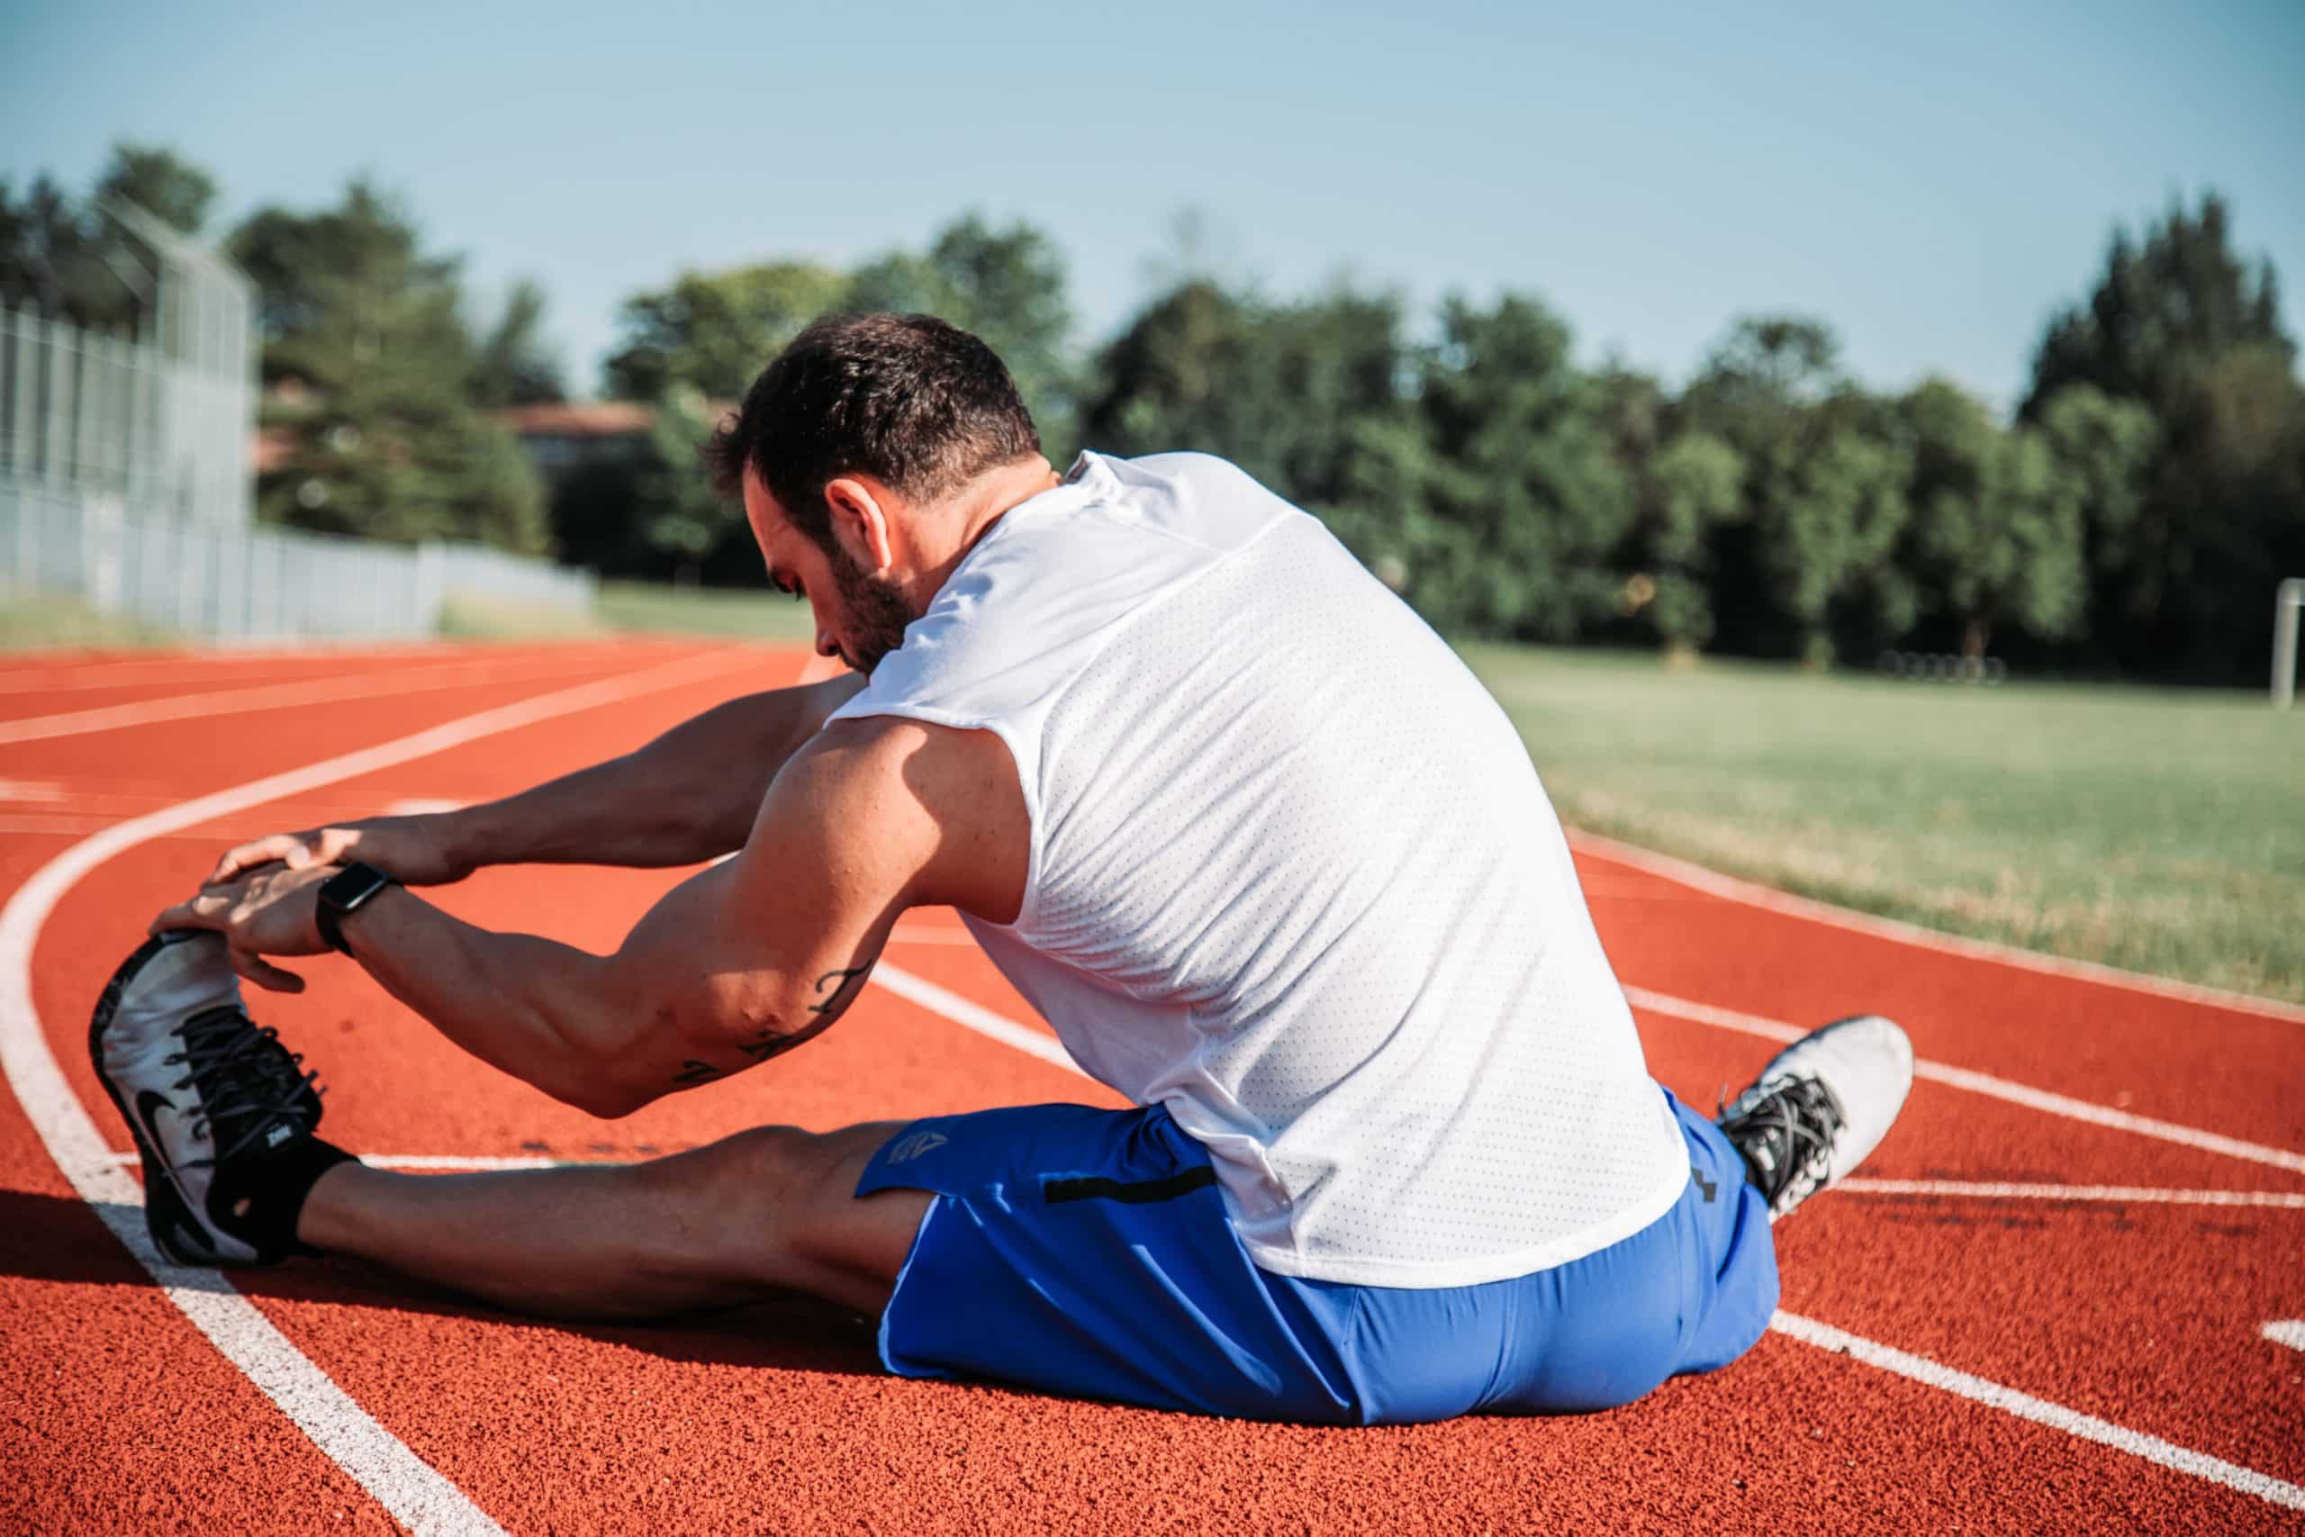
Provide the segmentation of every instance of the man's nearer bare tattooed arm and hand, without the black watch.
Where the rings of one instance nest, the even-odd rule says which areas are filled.
[[[443,1035],[595,1115],[738,1074],[827,1028],[897,915],[952,903],[1012,922],[1030,860],[1014,760],[991,733],[867,719],[777,777],[745,853],[675,887],[611,956],[466,924],[413,892],[346,922],[353,956]],[[325,949],[320,869],[270,866],[154,919],[254,956]],[[240,963],[240,961],[235,961]]]

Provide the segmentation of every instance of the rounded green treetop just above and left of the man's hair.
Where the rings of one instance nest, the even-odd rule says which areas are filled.
[[[668,288],[625,300],[609,392],[657,401],[685,385],[708,401],[738,401],[802,325],[844,309],[846,293],[844,274],[804,260],[682,272]]]

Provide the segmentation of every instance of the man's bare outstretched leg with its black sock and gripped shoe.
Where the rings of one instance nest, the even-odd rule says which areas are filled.
[[[394,1175],[323,1143],[320,1097],[258,1030],[214,936],[113,975],[90,1051],[136,1136],[145,1217],[191,1265],[362,1256],[500,1307],[641,1318],[804,1290],[878,1311],[929,1196],[855,1198],[897,1129],[770,1127],[629,1166]]]

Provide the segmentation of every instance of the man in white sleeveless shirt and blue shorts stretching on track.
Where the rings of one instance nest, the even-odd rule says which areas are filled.
[[[1512,726],[1316,518],[1199,454],[1056,475],[1000,359],[922,316],[809,327],[712,459],[857,677],[228,853],[92,1030],[166,1254],[350,1254],[560,1318],[807,1290],[908,1376],[1268,1419],[1607,1408],[1752,1346],[1770,1219],[1881,1141],[1911,1046],[1842,1021],[1720,1127],[1676,1104]],[[611,956],[413,889],[731,853]],[[334,945],[627,1115],[834,1025],[917,906],[1136,1108],[396,1175],[313,1134],[235,979],[295,991],[270,956]]]

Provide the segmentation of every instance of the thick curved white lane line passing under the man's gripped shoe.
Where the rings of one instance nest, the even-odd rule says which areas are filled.
[[[445,726],[350,751],[284,774],[201,795],[164,811],[138,816],[62,850],[0,908],[0,1072],[39,1131],[48,1157],[71,1187],[97,1207],[104,1224],[159,1281],[177,1309],[207,1334],[240,1371],[270,1396],[320,1452],[360,1482],[392,1516],[415,1532],[500,1532],[470,1498],[408,1445],[378,1424],[348,1392],[281,1334],[254,1302],[214,1270],[182,1270],[166,1263],[145,1235],[143,1189],[115,1161],[97,1125],[55,1053],[32,1007],[32,947],[55,903],[83,876],[118,853],[198,823],[297,795],[323,783],[371,774],[394,763],[475,742],[479,737],[592,710],[641,694],[728,671],[751,661],[745,652],[719,650],[659,664],[620,677],[539,694],[496,710],[482,710]]]

